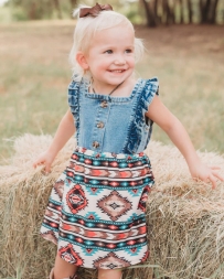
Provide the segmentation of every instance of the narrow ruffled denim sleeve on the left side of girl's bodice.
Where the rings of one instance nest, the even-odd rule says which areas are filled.
[[[79,132],[79,101],[78,101],[78,95],[79,95],[79,83],[78,82],[72,82],[68,85],[68,106],[71,108],[71,112],[73,114],[74,121],[75,121],[75,128],[76,128],[76,135],[75,137],[78,138]]]

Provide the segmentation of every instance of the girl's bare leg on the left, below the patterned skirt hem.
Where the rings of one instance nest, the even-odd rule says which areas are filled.
[[[54,265],[54,279],[70,278],[75,275],[77,266],[71,265],[70,262],[62,259],[56,255],[55,265]]]

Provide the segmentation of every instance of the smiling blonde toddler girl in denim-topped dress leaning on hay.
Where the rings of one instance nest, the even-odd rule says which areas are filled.
[[[82,266],[98,269],[99,279],[120,279],[122,268],[149,255],[145,213],[154,181],[143,150],[153,122],[179,148],[194,179],[215,187],[222,176],[200,161],[185,129],[159,99],[158,79],[135,78],[143,45],[130,21],[110,6],[78,13],[70,109],[34,167],[44,164],[49,172],[74,132],[77,147],[52,190],[41,234],[57,245],[50,278],[77,278]]]

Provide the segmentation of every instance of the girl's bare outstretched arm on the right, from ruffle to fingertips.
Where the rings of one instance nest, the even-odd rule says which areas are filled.
[[[193,179],[211,182],[213,189],[216,186],[216,179],[224,181],[224,178],[217,173],[220,170],[218,167],[207,167],[200,160],[183,125],[157,96],[154,96],[150,104],[146,116],[167,132],[169,138],[183,154]]]

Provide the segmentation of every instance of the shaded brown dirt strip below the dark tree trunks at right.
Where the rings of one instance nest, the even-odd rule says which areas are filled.
[[[224,26],[173,25],[156,29],[138,28],[137,35],[143,37],[158,54],[164,50],[215,54],[224,58]]]

